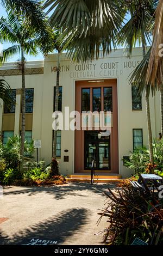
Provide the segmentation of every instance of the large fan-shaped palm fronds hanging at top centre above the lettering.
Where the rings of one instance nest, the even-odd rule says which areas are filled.
[[[68,57],[86,62],[109,54],[116,48],[116,34],[120,30],[125,11],[121,0],[47,0],[52,27],[62,30],[60,41],[68,50]]]

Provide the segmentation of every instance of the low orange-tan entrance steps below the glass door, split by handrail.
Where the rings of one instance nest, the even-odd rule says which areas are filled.
[[[111,183],[111,182],[119,182],[121,181],[122,176],[115,173],[98,173],[95,172],[94,182],[100,183]],[[75,173],[72,175],[68,175],[68,182],[91,182],[91,173]]]

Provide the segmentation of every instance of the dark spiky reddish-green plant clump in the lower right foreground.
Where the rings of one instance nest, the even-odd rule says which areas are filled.
[[[109,198],[108,206],[100,213],[101,218],[107,216],[110,223],[104,242],[131,245],[137,237],[148,245],[163,245],[163,202],[158,199],[158,193],[146,186],[144,190],[129,186],[122,191],[108,190],[109,193],[105,193]]]

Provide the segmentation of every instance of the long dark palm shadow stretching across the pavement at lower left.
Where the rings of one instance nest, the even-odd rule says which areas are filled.
[[[12,237],[7,236],[0,230],[0,245],[22,245],[24,239],[36,237],[42,240],[54,240],[57,241],[57,244],[61,244],[67,237],[76,233],[80,235],[80,229],[87,224],[89,214],[90,211],[84,208],[66,210],[29,228],[18,231]]]

